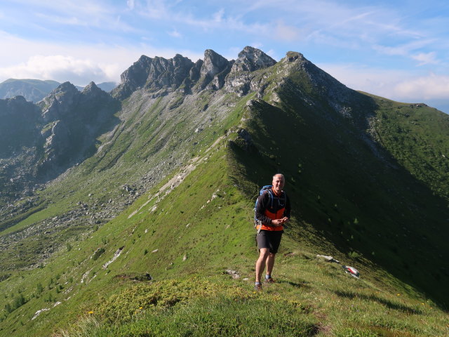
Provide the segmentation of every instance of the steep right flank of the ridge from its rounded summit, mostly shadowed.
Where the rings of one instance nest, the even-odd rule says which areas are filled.
[[[283,171],[298,194],[297,209],[304,220],[337,249],[373,260],[448,303],[443,281],[449,276],[444,239],[448,170],[447,161],[440,160],[448,150],[448,117],[431,109],[422,112],[422,119],[415,117],[427,128],[432,124],[424,118],[438,124],[435,135],[408,133],[427,143],[430,155],[413,150],[413,145],[403,149],[401,142],[393,151],[370,137],[375,130],[378,138],[386,134],[391,138],[391,131],[383,128],[397,127],[384,106],[323,72],[317,76],[316,67],[302,55],[287,56],[276,67],[286,63],[283,68],[294,71],[268,99],[272,104],[260,100],[250,107],[253,118],[245,127],[257,152],[240,154],[246,179],[262,185],[271,172]],[[393,109],[390,114],[397,112]],[[403,154],[407,150],[410,158]],[[409,171],[410,167],[415,169]],[[425,167],[432,173],[420,175]],[[438,191],[445,192],[438,195]],[[427,273],[422,272],[423,265],[429,268]]]

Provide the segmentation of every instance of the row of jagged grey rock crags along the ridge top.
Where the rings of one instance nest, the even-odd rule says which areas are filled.
[[[156,97],[178,88],[189,94],[217,91],[224,86],[227,91],[246,95],[250,90],[259,90],[259,83],[251,84],[255,77],[252,73],[274,64],[276,61],[269,55],[249,46],[243,48],[236,61],[229,61],[212,49],[206,49],[204,60],[195,63],[179,54],[173,59],[142,55],[121,74],[121,84],[112,91],[112,96],[123,100],[138,89],[152,92]]]

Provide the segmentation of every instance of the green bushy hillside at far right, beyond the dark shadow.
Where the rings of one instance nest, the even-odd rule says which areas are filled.
[[[422,104],[374,95],[377,139],[415,178],[449,199],[449,116]]]

